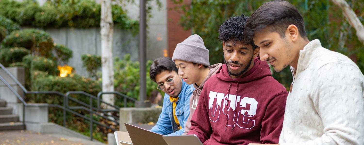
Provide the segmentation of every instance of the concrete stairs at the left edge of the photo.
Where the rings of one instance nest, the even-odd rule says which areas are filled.
[[[0,130],[23,129],[23,123],[19,122],[19,116],[13,115],[13,108],[6,106],[6,101],[0,100]]]

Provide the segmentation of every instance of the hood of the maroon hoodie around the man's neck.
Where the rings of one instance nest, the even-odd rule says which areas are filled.
[[[216,73],[218,79],[227,81],[227,82],[251,82],[256,79],[261,79],[266,76],[272,76],[270,73],[269,65],[266,61],[261,61],[259,57],[254,58],[254,66],[248,72],[246,72],[241,78],[233,79],[229,75],[229,71],[227,71],[226,64],[223,64]]]

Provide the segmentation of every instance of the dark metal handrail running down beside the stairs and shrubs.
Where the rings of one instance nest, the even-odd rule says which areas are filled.
[[[103,127],[106,127],[108,129],[111,129],[113,131],[116,131],[115,129],[107,126],[107,125],[104,125],[104,124],[101,124],[99,123],[98,121],[95,121],[92,116],[93,114],[95,115],[98,115],[98,116],[101,116],[103,117],[104,119],[107,119],[109,121],[112,121],[116,124],[119,124],[118,121],[115,121],[118,119],[117,116],[113,116],[113,115],[109,115],[108,113],[105,113],[107,116],[109,117],[112,117],[114,118],[115,120],[112,120],[112,119],[109,119],[108,117],[105,117],[104,115],[101,115],[99,113],[97,113],[97,111],[99,112],[111,112],[111,111],[119,111],[120,107],[118,106],[115,106],[115,105],[111,105],[107,102],[104,102],[102,100],[100,100],[100,96],[102,94],[117,94],[117,95],[120,95],[122,97],[124,97],[124,107],[126,107],[126,101],[127,99],[129,100],[132,100],[132,101],[136,101],[136,99],[134,98],[130,98],[129,96],[126,96],[120,92],[99,92],[98,93],[98,96],[97,98],[94,96],[94,95],[91,95],[91,94],[88,94],[84,91],[68,91],[66,93],[66,95],[62,94],[61,92],[58,92],[58,91],[28,91],[1,63],[0,63],[0,67],[15,81],[15,83],[20,86],[20,88],[23,90],[24,94],[57,94],[59,96],[62,96],[64,101],[63,101],[63,106],[61,105],[58,105],[58,104],[47,104],[47,105],[42,105],[42,106],[39,106],[39,105],[31,105],[31,104],[28,104],[25,102],[25,100],[13,89],[13,87],[11,87],[11,85],[3,78],[0,76],[0,79],[7,85],[7,87],[17,96],[17,98],[23,103],[23,129],[25,130],[25,107],[57,107],[57,108],[61,108],[63,109],[63,126],[66,127],[66,111],[68,112],[71,112],[72,114],[74,115],[77,115],[79,117],[82,117],[84,119],[87,119],[87,120],[90,120],[90,140],[93,140],[93,136],[92,136],[92,133],[93,133],[93,128],[92,128],[92,124],[95,123],[95,124],[98,124],[98,125],[101,125]],[[83,95],[86,95],[88,97],[90,97],[90,104],[86,104],[82,101],[79,101],[75,98],[72,98],[71,94],[83,94]],[[24,95],[23,95],[24,96]],[[68,99],[72,100],[72,101],[75,101],[77,103],[80,103],[86,107],[90,107],[90,108],[86,108],[86,107],[83,107],[83,106],[69,106],[68,105]],[[92,106],[92,99],[97,99],[97,108],[93,107]],[[101,103],[105,103],[107,105],[110,105],[112,107],[114,107],[115,109],[101,109],[100,108],[100,102]],[[81,115],[80,113],[77,113],[75,111],[72,111],[71,109],[74,108],[74,109],[84,109],[86,111],[89,111],[90,112],[90,117],[86,117],[84,115]],[[94,111],[95,110],[95,111]]]

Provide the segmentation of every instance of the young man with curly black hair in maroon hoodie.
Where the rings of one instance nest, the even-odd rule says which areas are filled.
[[[204,145],[277,143],[287,90],[256,58],[259,49],[244,43],[248,17],[231,17],[219,29],[225,64],[205,83],[188,134]]]

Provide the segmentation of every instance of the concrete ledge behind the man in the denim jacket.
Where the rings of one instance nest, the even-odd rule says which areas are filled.
[[[120,131],[127,131],[124,123],[156,123],[161,112],[162,108],[120,108]]]

